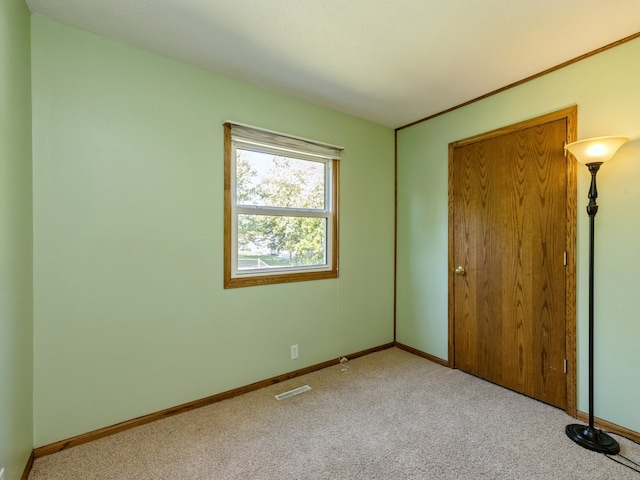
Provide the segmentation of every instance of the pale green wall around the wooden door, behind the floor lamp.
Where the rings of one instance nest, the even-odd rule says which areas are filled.
[[[446,359],[448,144],[571,105],[578,138],[631,141],[598,174],[595,415],[640,431],[640,39],[398,132],[397,340]],[[425,92],[428,94],[428,92]],[[578,170],[578,409],[588,410],[590,175]]]

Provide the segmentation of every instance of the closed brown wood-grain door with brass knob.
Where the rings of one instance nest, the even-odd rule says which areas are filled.
[[[559,119],[454,144],[453,366],[567,407],[567,177]]]

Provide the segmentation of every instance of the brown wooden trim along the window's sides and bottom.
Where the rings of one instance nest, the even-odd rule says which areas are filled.
[[[237,124],[236,124],[237,125]],[[333,234],[327,238],[327,242],[331,242],[330,249],[332,255],[330,259],[330,268],[325,270],[309,270],[296,272],[278,272],[273,275],[258,274],[246,275],[242,277],[232,276],[233,265],[233,189],[232,189],[232,154],[233,145],[231,138],[230,122],[224,124],[224,282],[223,286],[227,288],[252,287],[257,285],[273,285],[279,283],[303,282],[309,280],[324,280],[329,278],[338,278],[338,257],[339,257],[339,164],[337,159],[330,159],[331,163],[331,203],[332,215],[329,218],[331,222],[331,230]],[[292,137],[295,138],[295,137]],[[340,148],[341,150],[341,148]],[[329,250],[329,249],[328,249]]]

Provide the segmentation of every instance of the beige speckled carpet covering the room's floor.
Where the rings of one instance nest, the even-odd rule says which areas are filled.
[[[39,458],[29,480],[640,479],[567,438],[563,411],[459,370],[397,348],[347,367]]]

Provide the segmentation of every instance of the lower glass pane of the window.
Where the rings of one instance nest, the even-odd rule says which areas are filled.
[[[238,270],[326,265],[327,219],[238,215]]]

